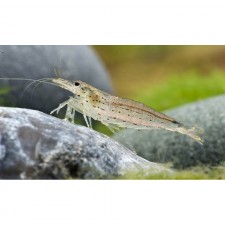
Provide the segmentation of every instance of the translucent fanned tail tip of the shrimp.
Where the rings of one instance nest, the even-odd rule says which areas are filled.
[[[199,144],[203,145],[203,133],[204,133],[204,130],[200,127],[191,127],[191,128],[185,128],[185,127],[180,127],[178,130],[177,130],[179,133],[182,133],[182,134],[186,134],[188,135],[189,137],[193,138],[195,141],[197,141]]]

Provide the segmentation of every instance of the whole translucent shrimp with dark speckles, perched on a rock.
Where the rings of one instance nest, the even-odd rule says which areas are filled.
[[[92,127],[91,118],[93,118],[108,126],[113,132],[119,128],[138,130],[162,128],[188,135],[202,143],[200,128],[186,128],[172,117],[159,113],[142,103],[112,96],[82,81],[71,82],[62,78],[53,78],[51,81],[74,94],[51,114],[58,113],[61,108],[67,106],[65,119],[74,121],[75,112],[80,112],[88,127]]]

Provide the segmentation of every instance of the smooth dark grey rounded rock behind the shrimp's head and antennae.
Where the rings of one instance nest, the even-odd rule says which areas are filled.
[[[61,77],[82,80],[93,86],[112,92],[106,69],[89,46],[0,46],[0,77],[41,79],[55,77],[54,68],[60,69]],[[0,80],[2,86],[14,89],[9,100],[16,107],[30,108],[49,113],[60,102],[72,95],[53,85],[31,85],[28,81]],[[24,94],[23,94],[24,92]]]

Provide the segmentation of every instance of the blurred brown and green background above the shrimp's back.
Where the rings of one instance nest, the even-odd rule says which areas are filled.
[[[225,93],[225,46],[92,46],[115,93],[166,110]]]

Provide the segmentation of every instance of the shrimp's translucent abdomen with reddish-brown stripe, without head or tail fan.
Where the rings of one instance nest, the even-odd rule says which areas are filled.
[[[107,99],[109,106],[107,114],[101,119],[106,123],[116,124],[124,128],[148,129],[152,127],[164,128],[170,125],[171,128],[181,126],[171,117],[158,113],[144,104],[129,99],[112,96]],[[101,112],[101,114],[105,114]]]

